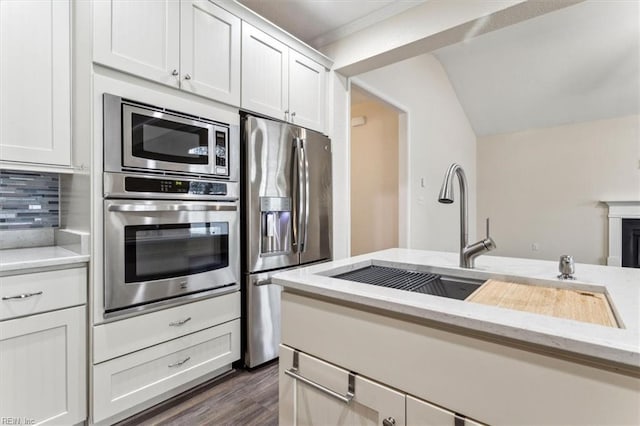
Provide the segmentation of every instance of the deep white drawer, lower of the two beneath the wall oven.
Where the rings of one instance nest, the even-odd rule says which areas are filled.
[[[100,422],[240,358],[236,319],[93,367],[93,421]]]

